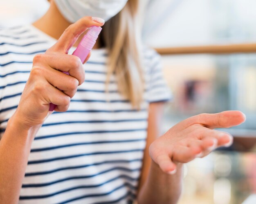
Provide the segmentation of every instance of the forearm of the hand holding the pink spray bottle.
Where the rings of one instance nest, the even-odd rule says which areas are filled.
[[[26,127],[11,117],[0,140],[0,203],[18,202],[31,143],[38,127]]]

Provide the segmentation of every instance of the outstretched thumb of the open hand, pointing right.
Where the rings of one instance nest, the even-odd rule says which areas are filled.
[[[194,124],[200,124],[210,129],[229,128],[240,125],[246,117],[240,111],[224,111],[216,114],[199,114],[183,121],[182,125],[189,127]]]

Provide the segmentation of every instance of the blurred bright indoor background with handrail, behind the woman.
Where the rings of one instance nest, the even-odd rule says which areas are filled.
[[[203,112],[247,115],[242,125],[224,130],[234,136],[234,145],[186,165],[179,204],[255,204],[256,1],[142,2],[144,43],[162,54],[173,93],[163,132]],[[0,0],[0,6],[0,27],[10,27],[34,22],[49,5],[47,0]]]

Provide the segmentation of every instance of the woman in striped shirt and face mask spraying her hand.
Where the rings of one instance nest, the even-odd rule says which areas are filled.
[[[183,163],[232,142],[213,128],[242,123],[238,111],[160,136],[169,96],[159,56],[140,46],[137,4],[51,0],[33,25],[1,31],[0,203],[176,203]],[[83,65],[67,53],[90,26],[103,31]]]

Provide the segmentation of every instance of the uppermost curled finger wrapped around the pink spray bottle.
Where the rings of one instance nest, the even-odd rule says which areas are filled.
[[[85,71],[79,57],[65,54],[39,54],[33,59],[33,65],[50,66],[56,70],[69,72],[70,76],[76,78],[81,85],[85,80]]]

